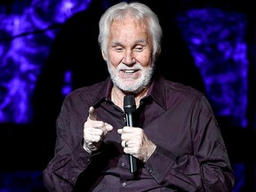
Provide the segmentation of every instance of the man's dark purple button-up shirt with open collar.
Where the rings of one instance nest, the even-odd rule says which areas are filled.
[[[112,86],[108,78],[64,100],[56,124],[55,156],[44,170],[49,191],[231,191],[234,175],[204,94],[156,78],[133,115],[156,150],[147,163],[138,162],[139,172],[132,174],[116,132],[125,122],[124,111],[110,99]],[[82,143],[91,106],[98,120],[114,129],[90,155]]]

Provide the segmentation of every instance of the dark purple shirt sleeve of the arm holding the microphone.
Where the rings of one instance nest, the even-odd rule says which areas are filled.
[[[194,103],[191,112],[191,154],[178,156],[156,146],[145,164],[157,183],[182,191],[228,192],[234,186],[234,174],[219,125],[205,97]]]

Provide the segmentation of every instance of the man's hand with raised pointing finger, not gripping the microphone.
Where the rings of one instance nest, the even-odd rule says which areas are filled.
[[[84,123],[84,149],[88,153],[98,150],[102,140],[112,130],[111,124],[97,120],[95,109],[93,107],[89,108],[89,116]]]

